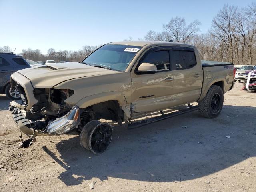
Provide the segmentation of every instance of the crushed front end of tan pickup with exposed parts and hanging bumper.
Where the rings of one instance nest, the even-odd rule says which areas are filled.
[[[22,146],[36,142],[38,135],[65,134],[80,124],[79,107],[65,103],[65,100],[74,94],[73,90],[31,88],[31,84],[18,83],[14,79],[11,79],[11,85],[20,92],[22,104],[12,101],[9,110],[20,131],[30,138],[29,142],[23,142]]]

